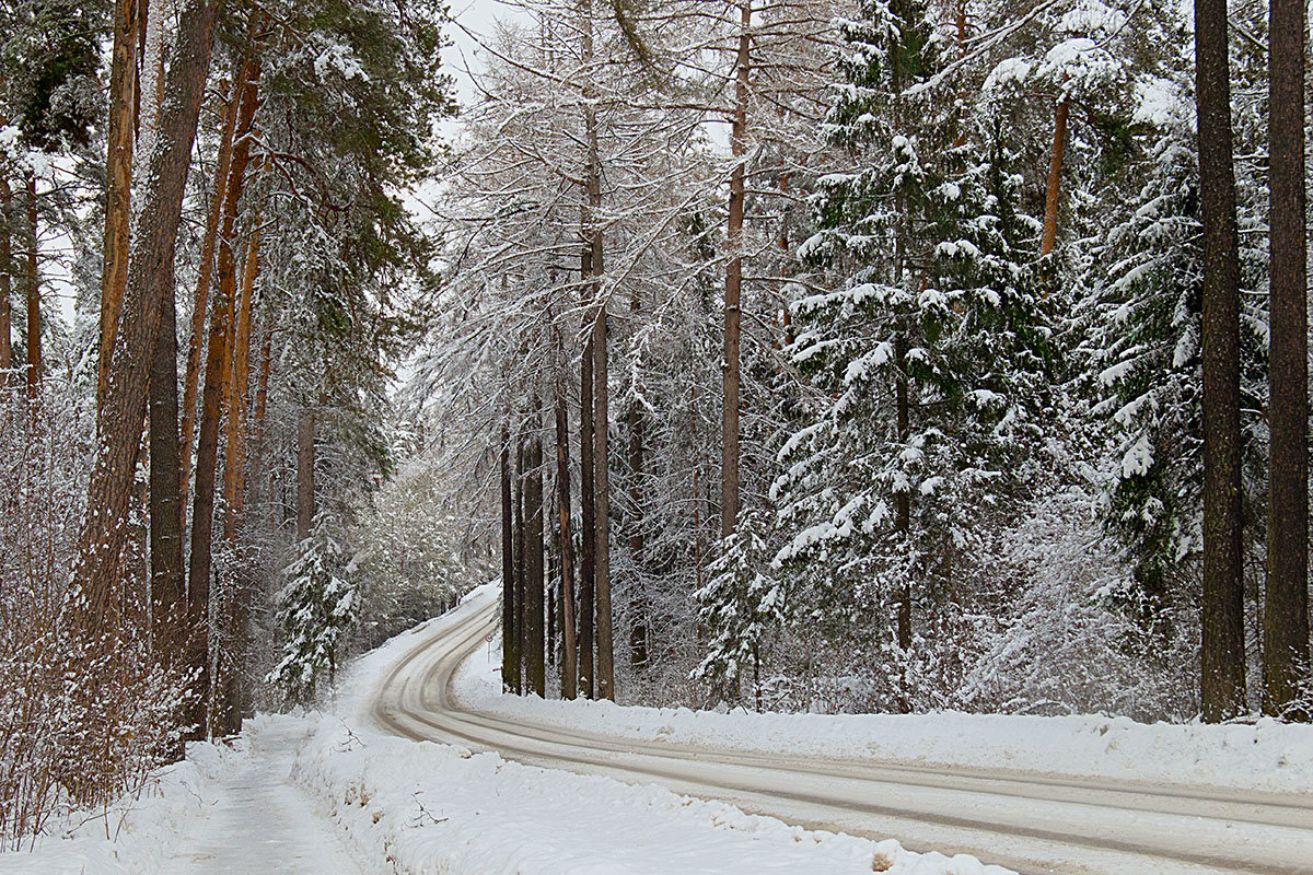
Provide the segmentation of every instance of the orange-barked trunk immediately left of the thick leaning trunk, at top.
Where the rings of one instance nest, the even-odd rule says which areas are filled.
[[[105,192],[105,245],[100,287],[100,366],[96,401],[105,399],[109,361],[118,333],[118,315],[127,289],[127,244],[131,223],[133,134],[137,127],[137,0],[114,4],[114,49],[109,72],[109,152]]]

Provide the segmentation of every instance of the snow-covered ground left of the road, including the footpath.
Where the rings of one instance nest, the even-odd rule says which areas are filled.
[[[490,597],[477,593],[461,610]],[[0,854],[0,875],[1006,875],[972,857],[914,854],[651,784],[389,736],[368,718],[370,697],[416,634],[357,661],[331,714],[261,716],[231,748],[190,745],[139,799],[35,853]]]

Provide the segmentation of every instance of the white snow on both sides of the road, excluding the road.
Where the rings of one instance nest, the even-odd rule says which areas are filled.
[[[509,762],[383,732],[379,681],[416,643],[496,597],[356,661],[328,714],[261,716],[234,745],[193,744],[135,798],[70,821],[0,875],[457,875],[869,872],[1003,875],[976,858],[809,832],[654,784]],[[580,732],[733,750],[944,763],[1308,792],[1313,728],[1142,725],[1104,718],[758,715],[507,697],[490,644],[457,673],[461,702]]]

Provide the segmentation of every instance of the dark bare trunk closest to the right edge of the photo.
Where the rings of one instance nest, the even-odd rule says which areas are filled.
[[[1308,264],[1304,222],[1304,0],[1271,0],[1271,496],[1263,674],[1268,714],[1309,678]],[[1295,715],[1308,720],[1306,710]]]

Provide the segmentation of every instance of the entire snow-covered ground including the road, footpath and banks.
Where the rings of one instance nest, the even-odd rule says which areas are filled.
[[[188,761],[160,770],[137,799],[66,825],[34,854],[0,854],[0,875],[1006,875],[977,857],[1033,861],[1040,851],[1054,865],[1015,867],[1028,875],[1313,872],[1309,784],[1283,796],[1284,807],[1250,790],[1305,781],[1313,767],[1305,727],[725,715],[504,697],[488,681],[496,653],[484,640],[495,598],[482,588],[457,611],[358,660],[332,714],[261,716],[235,745],[190,745]],[[453,690],[460,703],[449,701]],[[387,711],[403,735],[450,741],[465,731],[484,744],[399,737],[381,719]],[[499,745],[523,762],[479,752]],[[869,766],[877,777],[817,770],[840,756],[850,757],[846,767]],[[907,774],[878,777],[885,758],[911,763],[898,766]],[[1082,786],[1022,777],[1001,788],[999,767],[1117,779]],[[671,774],[702,799],[672,791],[681,781]],[[1137,800],[1120,788],[1127,775],[1166,777],[1179,792]],[[964,781],[965,790],[956,786]],[[1209,794],[1208,781],[1234,790]],[[743,792],[718,792],[725,787]],[[814,794],[814,816],[798,803],[806,794]],[[831,829],[790,826],[716,796]],[[1257,802],[1237,802],[1250,796]],[[930,808],[901,808],[918,798]],[[843,799],[848,821],[835,815]],[[872,816],[881,805],[892,813]],[[973,833],[961,820],[927,819],[936,805],[958,819],[1015,805],[1022,826]],[[1075,819],[1102,824],[1107,846],[1045,845],[1027,834],[1087,825]],[[860,834],[839,833],[847,823]],[[1161,833],[1166,844],[1116,847],[1137,830]],[[890,834],[977,853],[918,854]]]

